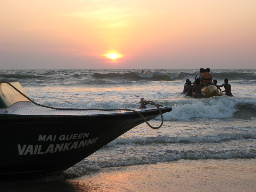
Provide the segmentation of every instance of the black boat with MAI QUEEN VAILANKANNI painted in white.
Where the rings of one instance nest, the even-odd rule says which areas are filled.
[[[52,109],[31,105],[19,83],[0,83],[0,176],[62,172],[169,107],[134,111]],[[158,110],[159,109],[159,110]],[[137,112],[137,113],[135,113]]]

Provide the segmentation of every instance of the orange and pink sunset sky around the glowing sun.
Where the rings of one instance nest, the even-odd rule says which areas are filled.
[[[255,0],[1,0],[0,69],[252,68]],[[111,60],[108,52],[122,54]]]

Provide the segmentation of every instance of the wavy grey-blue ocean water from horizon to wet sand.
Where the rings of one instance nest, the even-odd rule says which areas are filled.
[[[218,85],[229,79],[234,97],[195,99],[182,94],[198,70],[0,70],[0,81],[20,82],[37,103],[54,107],[138,108],[140,98],[172,107],[153,130],[140,124],[57,178],[107,168],[206,159],[256,157],[256,70],[211,69]],[[150,107],[150,106],[149,106]],[[160,116],[149,121],[161,124]],[[254,167],[255,169],[255,167]],[[256,169],[255,169],[256,170]]]

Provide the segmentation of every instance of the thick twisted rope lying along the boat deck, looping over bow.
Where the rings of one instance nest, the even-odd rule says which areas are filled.
[[[27,95],[25,95],[24,93],[22,93],[20,90],[18,90],[15,86],[13,86],[11,83],[7,82],[7,81],[1,81],[0,83],[6,83],[8,85],[10,85],[13,89],[15,89],[17,92],[19,92],[22,96],[24,96],[26,99],[28,99],[31,103],[37,105],[37,106],[40,106],[40,107],[44,107],[44,108],[50,108],[50,109],[55,109],[55,110],[75,110],[75,111],[91,111],[91,110],[94,110],[94,111],[132,111],[134,113],[137,113],[139,116],[141,116],[141,118],[145,121],[145,123],[152,129],[159,129],[163,123],[164,123],[164,118],[163,118],[163,114],[161,112],[161,110],[159,109],[159,106],[163,107],[162,105],[159,105],[159,104],[156,104],[154,103],[153,101],[147,101],[147,100],[144,100],[143,101],[143,104],[144,105],[154,105],[156,106],[156,108],[158,109],[160,115],[161,115],[161,119],[162,119],[162,122],[161,124],[158,126],[158,127],[153,127],[151,126],[148,121],[146,120],[146,118],[140,114],[138,111],[135,111],[133,109],[97,109],[97,108],[56,108],[56,107],[50,107],[50,106],[46,106],[46,105],[42,105],[42,104],[39,104],[39,103],[36,103],[35,101],[33,101],[32,99],[30,99]],[[140,101],[141,102],[141,101]]]

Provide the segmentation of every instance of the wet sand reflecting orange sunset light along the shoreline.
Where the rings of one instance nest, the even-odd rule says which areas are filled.
[[[2,192],[255,192],[256,159],[180,160],[105,168],[61,181],[2,181]]]

